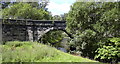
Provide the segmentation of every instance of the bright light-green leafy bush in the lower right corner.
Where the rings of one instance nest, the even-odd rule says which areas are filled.
[[[108,42],[95,52],[98,53],[95,59],[118,61],[120,58],[120,38],[109,38]]]

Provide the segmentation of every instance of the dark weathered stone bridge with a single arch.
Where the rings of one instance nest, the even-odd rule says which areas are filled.
[[[38,41],[51,30],[66,30],[66,21],[0,19],[2,21],[2,41]]]

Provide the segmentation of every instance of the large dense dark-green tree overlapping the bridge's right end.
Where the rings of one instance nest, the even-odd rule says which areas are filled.
[[[120,36],[119,2],[76,2],[67,16],[70,41],[83,56],[94,58],[99,41]]]

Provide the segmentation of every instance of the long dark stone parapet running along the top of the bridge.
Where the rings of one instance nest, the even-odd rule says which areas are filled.
[[[52,27],[66,27],[66,21],[52,21],[52,20],[30,20],[30,19],[2,19],[3,24],[9,25],[35,25],[35,26],[52,26]]]

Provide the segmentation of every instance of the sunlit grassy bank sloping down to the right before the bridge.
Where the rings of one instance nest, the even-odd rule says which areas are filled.
[[[2,50],[2,62],[96,62],[36,42],[6,42]]]

